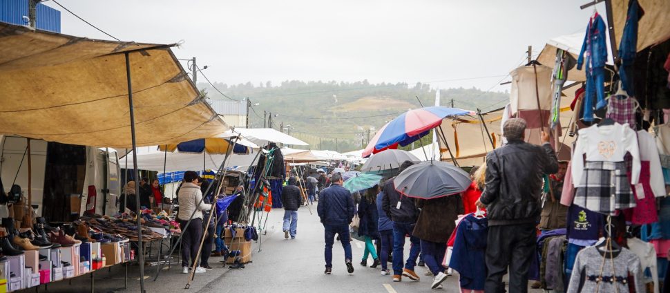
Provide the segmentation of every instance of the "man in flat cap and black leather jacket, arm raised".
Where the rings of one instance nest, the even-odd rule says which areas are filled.
[[[505,122],[508,144],[486,155],[486,188],[477,201],[488,213],[484,285],[487,293],[504,292],[502,277],[510,267],[510,292],[528,291],[528,268],[535,255],[535,225],[540,215],[542,177],[558,171],[549,135],[542,147],[524,142],[526,120]]]

